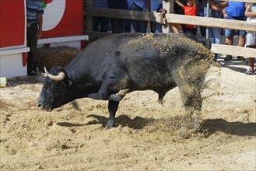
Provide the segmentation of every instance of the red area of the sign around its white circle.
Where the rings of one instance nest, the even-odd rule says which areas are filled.
[[[66,0],[65,13],[52,30],[43,31],[42,38],[82,35],[82,0]]]

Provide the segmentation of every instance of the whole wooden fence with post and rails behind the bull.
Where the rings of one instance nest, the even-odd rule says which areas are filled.
[[[86,0],[87,2],[91,0]],[[225,0],[227,1],[227,0]],[[235,0],[238,1],[238,0]],[[239,2],[254,2],[255,0],[239,0]],[[244,30],[256,33],[256,23],[237,21],[230,19],[216,19],[212,17],[198,17],[198,16],[184,16],[177,15],[173,12],[173,2],[170,0],[163,1],[163,7],[166,6],[166,13],[159,12],[139,12],[121,9],[100,9],[92,7],[84,7],[84,16],[104,16],[118,19],[138,19],[153,21],[157,23],[181,23],[191,24],[196,26],[216,27],[216,28],[229,28],[232,30]],[[170,13],[169,13],[170,12]],[[163,27],[163,33],[170,33],[170,25]],[[212,44],[212,51],[217,54],[232,54],[234,56],[244,56],[245,58],[256,58],[256,49],[228,46],[223,44]]]

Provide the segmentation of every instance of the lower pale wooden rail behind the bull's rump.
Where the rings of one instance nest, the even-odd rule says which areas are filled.
[[[234,56],[243,56],[244,58],[256,58],[256,49],[229,46],[226,44],[212,44],[211,51],[216,54],[232,54]]]

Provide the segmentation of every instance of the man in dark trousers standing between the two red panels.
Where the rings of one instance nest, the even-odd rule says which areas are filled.
[[[37,40],[41,38],[43,26],[43,1],[26,0],[26,44],[30,47],[27,58],[27,75],[36,75]]]

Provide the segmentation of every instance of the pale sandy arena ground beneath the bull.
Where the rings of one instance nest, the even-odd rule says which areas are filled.
[[[203,131],[189,138],[180,136],[177,88],[163,105],[155,92],[129,93],[106,131],[106,101],[77,99],[47,113],[37,107],[42,79],[9,79],[0,89],[0,170],[256,170],[256,77],[245,68],[211,68]]]

